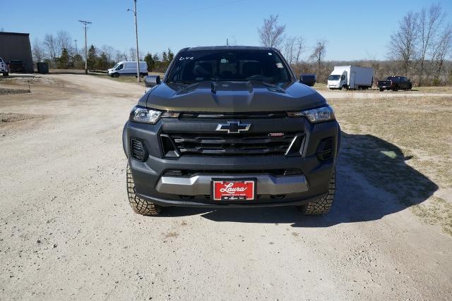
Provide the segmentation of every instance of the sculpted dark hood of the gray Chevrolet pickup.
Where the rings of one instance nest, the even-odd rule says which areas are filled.
[[[279,87],[265,82],[165,83],[147,92],[141,106],[163,111],[266,112],[299,111],[326,104],[316,90],[300,82]]]

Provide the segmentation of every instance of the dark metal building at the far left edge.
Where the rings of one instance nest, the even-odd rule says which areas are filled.
[[[22,60],[25,64],[25,71],[33,73],[30,34],[0,32],[0,57],[6,62]]]

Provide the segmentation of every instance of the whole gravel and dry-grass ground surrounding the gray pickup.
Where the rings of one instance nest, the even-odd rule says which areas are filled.
[[[127,203],[121,146],[143,87],[30,86],[0,95],[0,299],[450,299],[452,94],[322,91],[344,132],[328,216],[144,217]]]

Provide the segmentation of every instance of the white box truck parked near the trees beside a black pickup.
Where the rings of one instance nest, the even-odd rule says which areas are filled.
[[[372,87],[374,68],[357,66],[335,66],[328,76],[328,88],[363,90]]]

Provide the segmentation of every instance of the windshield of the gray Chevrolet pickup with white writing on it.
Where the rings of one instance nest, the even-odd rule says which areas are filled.
[[[182,51],[175,59],[168,81],[203,80],[287,82],[291,78],[280,56],[271,50]]]

